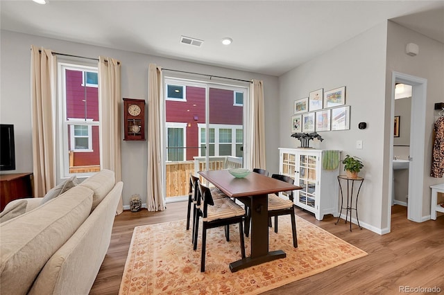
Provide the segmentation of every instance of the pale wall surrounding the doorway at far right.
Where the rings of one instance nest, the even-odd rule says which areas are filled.
[[[418,141],[425,142],[422,217],[427,219],[427,216],[430,215],[430,186],[444,183],[443,179],[430,177],[433,127],[434,120],[438,116],[438,111],[434,110],[434,104],[444,102],[444,44],[395,24],[393,21],[388,21],[387,36],[387,101],[391,100],[393,71],[427,79],[425,136],[417,138]],[[405,53],[406,45],[409,43],[418,44],[418,55],[412,57]],[[386,117],[386,124],[388,124],[388,120],[390,118]],[[384,150],[388,151],[389,148],[388,138],[386,138]]]

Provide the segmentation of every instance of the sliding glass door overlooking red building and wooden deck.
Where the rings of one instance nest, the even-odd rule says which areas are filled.
[[[244,166],[245,87],[166,78],[167,202],[185,199],[189,173]]]

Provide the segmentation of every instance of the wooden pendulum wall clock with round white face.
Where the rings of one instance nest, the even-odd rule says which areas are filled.
[[[124,141],[145,140],[145,100],[123,98]]]

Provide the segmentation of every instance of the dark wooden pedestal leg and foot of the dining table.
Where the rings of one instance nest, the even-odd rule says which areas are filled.
[[[282,250],[268,251],[268,195],[251,197],[251,256],[230,263],[232,272],[285,258]]]

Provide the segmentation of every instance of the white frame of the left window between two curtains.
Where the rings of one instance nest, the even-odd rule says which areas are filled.
[[[66,105],[66,75],[65,69],[74,70],[74,71],[90,71],[90,72],[98,72],[99,67],[95,64],[85,64],[76,62],[74,63],[71,60],[59,60],[57,64],[57,80],[58,80],[58,95],[55,103],[56,107],[56,157],[58,159],[57,167],[57,179],[58,182],[62,179],[67,179],[71,176],[76,175],[79,178],[89,177],[94,175],[94,172],[84,172],[84,173],[69,173],[69,150],[70,147],[68,145],[68,125],[73,123],[73,120],[69,120],[67,118],[67,105]],[[83,75],[83,79],[85,75]],[[85,82],[85,80],[83,80]],[[94,84],[93,84],[94,85]],[[84,86],[84,84],[82,84]],[[100,108],[100,101],[99,101]],[[99,109],[99,118],[101,117],[101,111]],[[76,121],[75,125],[88,125],[91,127],[91,136],[92,136],[92,126],[99,126],[99,130],[101,129],[101,121],[94,120],[86,120],[83,118],[83,121]],[[99,136],[99,144],[102,144],[102,138]],[[90,145],[92,147],[92,145]],[[100,165],[103,163],[101,147],[100,150]],[[79,150],[85,151],[85,150]],[[77,152],[77,151],[76,151]]]

